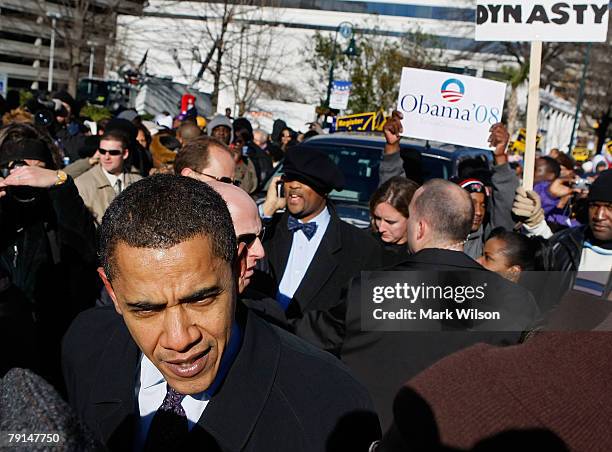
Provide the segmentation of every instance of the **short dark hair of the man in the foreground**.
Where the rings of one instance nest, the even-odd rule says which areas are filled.
[[[99,258],[106,276],[116,276],[115,249],[167,249],[198,235],[208,237],[213,255],[234,262],[236,235],[227,206],[208,184],[189,177],[157,174],[121,192],[99,229]]]

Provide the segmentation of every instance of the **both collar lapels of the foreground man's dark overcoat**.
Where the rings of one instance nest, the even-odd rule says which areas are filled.
[[[246,445],[272,391],[281,354],[271,326],[248,312],[241,317],[241,349],[198,421],[223,450]],[[100,438],[113,450],[128,450],[138,416],[135,385],[141,353],[122,319],[111,334],[91,400]]]

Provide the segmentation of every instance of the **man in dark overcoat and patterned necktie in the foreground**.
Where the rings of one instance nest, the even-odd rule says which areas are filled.
[[[380,427],[331,355],[237,305],[247,253],[207,184],[152,176],[100,226],[111,307],[64,339],[71,405],[111,450],[368,450]]]

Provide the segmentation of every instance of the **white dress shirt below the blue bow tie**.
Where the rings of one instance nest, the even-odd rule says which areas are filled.
[[[281,299],[291,300],[298,287],[300,287],[312,258],[316,254],[321,240],[323,240],[330,218],[329,210],[325,207],[319,215],[308,222],[317,224],[317,231],[310,240],[306,238],[304,231],[301,229],[293,233],[291,252],[289,253],[285,273],[283,273],[283,278],[278,286],[277,300],[279,302],[281,302]],[[303,223],[302,220],[298,221]]]

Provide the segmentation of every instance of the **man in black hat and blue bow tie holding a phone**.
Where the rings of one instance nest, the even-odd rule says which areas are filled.
[[[268,285],[262,275],[256,283],[276,298],[296,334],[325,348],[327,332],[303,319],[338,309],[349,280],[380,267],[382,251],[366,231],[338,217],[327,195],[342,190],[344,175],[325,153],[288,151],[282,184],[286,211],[270,220],[264,238]]]

